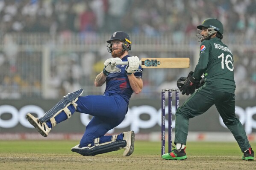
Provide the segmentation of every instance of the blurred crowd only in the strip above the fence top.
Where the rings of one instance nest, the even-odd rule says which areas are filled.
[[[255,0],[0,0],[0,30],[183,34],[216,17],[227,32],[254,34],[255,9]]]

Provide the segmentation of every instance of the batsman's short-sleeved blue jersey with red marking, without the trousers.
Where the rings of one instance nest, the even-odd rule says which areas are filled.
[[[127,58],[130,57],[126,55],[122,58],[122,61],[127,61]],[[121,69],[119,72],[111,72],[106,78],[106,89],[104,95],[121,95],[124,100],[129,104],[129,99],[132,96],[133,90],[129,83],[129,79],[125,72],[125,67],[127,65],[118,65],[117,68]],[[137,72],[134,73],[135,77],[142,78],[143,69],[139,66]]]

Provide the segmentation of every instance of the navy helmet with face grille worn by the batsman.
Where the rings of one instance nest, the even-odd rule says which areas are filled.
[[[122,44],[123,50],[128,51],[128,50],[132,49],[132,42],[130,40],[129,35],[125,32],[117,31],[117,32],[113,33],[110,40],[107,40],[107,43],[109,43],[107,45],[107,48],[110,53],[112,53],[112,43],[111,42],[114,40],[120,40],[120,41],[124,42]]]

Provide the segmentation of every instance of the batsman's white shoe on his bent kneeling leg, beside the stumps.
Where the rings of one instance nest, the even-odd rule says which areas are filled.
[[[134,151],[134,139],[135,139],[134,132],[133,131],[124,132],[123,139],[126,141],[126,146],[124,147],[123,156],[130,156]]]

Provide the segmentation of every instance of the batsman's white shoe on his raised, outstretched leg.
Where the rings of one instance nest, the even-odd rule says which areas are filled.
[[[26,119],[44,137],[47,137],[48,134],[50,133],[50,130],[52,130],[50,127],[47,126],[45,122],[41,123],[38,118],[35,118],[30,113],[26,115]]]

